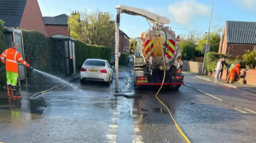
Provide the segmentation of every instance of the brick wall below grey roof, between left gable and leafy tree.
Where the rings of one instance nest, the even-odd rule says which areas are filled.
[[[46,29],[49,37],[55,34],[62,34],[62,35],[69,36],[67,25],[46,25]]]

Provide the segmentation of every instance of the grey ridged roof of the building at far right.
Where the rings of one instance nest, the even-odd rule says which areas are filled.
[[[256,22],[227,21],[227,43],[256,44]]]

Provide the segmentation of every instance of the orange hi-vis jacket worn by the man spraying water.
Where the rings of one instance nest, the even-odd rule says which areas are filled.
[[[6,63],[6,71],[18,73],[18,61],[25,65],[26,67],[30,67],[30,65],[24,61],[21,54],[14,48],[6,49],[0,55],[2,63]],[[6,58],[6,61],[4,60]]]

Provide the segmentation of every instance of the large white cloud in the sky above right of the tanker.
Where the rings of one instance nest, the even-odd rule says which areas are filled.
[[[177,24],[188,26],[196,16],[207,15],[209,8],[196,0],[179,0],[170,4],[168,11]]]

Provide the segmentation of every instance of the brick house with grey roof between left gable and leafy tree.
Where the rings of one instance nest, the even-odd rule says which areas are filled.
[[[54,17],[43,17],[49,37],[55,34],[62,34],[69,37],[68,15],[61,14]]]

